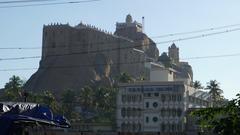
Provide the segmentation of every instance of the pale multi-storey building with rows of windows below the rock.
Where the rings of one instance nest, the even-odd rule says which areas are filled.
[[[185,112],[193,106],[190,95],[193,93],[194,89],[183,81],[120,84],[117,96],[118,132],[183,134]],[[204,105],[202,101],[201,107]]]

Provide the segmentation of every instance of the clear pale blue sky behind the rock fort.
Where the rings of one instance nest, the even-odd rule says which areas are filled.
[[[203,33],[154,38],[177,32],[239,24],[239,5],[240,1],[237,0],[100,0],[90,3],[18,8],[2,8],[6,5],[0,4],[0,48],[41,47],[43,25],[57,22],[69,23],[71,26],[83,22],[114,32],[116,22],[124,22],[127,14],[131,14],[133,20],[138,22],[141,22],[144,16],[145,33],[153,37],[155,42],[204,35],[239,28],[240,25]],[[189,58],[240,53],[239,35],[240,30],[175,42],[180,49],[180,59],[184,59],[192,66],[194,80],[199,80],[203,86],[206,86],[210,80],[217,80],[227,99],[235,98],[235,95],[240,92],[238,86],[240,56]],[[166,52],[170,45],[171,43],[158,44],[157,47],[162,53]],[[0,88],[4,87],[12,75],[28,80],[36,72],[36,69],[1,71],[2,69],[37,68],[40,60],[1,59],[40,55],[41,49],[0,49]]]

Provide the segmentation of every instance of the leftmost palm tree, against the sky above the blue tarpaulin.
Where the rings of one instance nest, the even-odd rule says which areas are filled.
[[[4,100],[20,101],[23,84],[23,80],[20,77],[13,75],[4,86]]]

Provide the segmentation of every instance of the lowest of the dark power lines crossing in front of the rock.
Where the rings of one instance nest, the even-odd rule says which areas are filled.
[[[193,60],[193,59],[209,59],[209,58],[222,58],[222,57],[236,57],[240,56],[240,53],[235,54],[224,54],[224,55],[211,55],[211,56],[199,56],[199,57],[188,57],[183,58],[182,60]],[[140,64],[152,61],[136,61],[136,62],[122,62],[122,63],[112,63],[109,65],[124,65],[124,64]],[[96,65],[107,65],[107,64],[82,64],[82,65],[69,65],[69,66],[51,66],[51,67],[39,67],[39,68],[12,68],[12,69],[0,69],[0,72],[3,71],[23,71],[23,70],[36,70],[36,69],[72,69],[80,67],[91,67]]]

